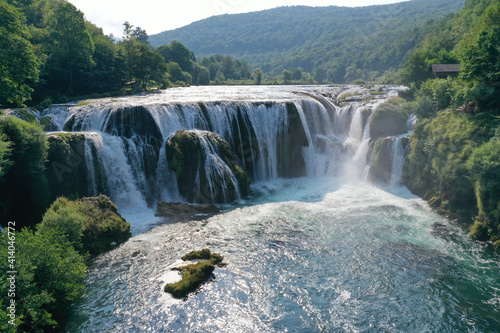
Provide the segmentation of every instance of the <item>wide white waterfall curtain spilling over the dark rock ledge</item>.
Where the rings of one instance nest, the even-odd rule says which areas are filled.
[[[370,117],[377,103],[340,107],[316,92],[287,94],[244,100],[128,97],[119,102],[57,106],[43,116],[50,117],[58,130],[85,134],[88,195],[108,194],[119,207],[184,200],[165,152],[166,142],[179,130],[200,134],[197,138],[206,158],[200,165],[212,194],[214,179],[222,179],[227,182],[222,187],[236,191],[238,181],[206,140],[206,132],[227,142],[254,181],[306,175],[363,180],[372,142]],[[409,129],[414,122],[415,117],[410,117]],[[394,139],[392,185],[400,181],[403,157],[401,139]]]

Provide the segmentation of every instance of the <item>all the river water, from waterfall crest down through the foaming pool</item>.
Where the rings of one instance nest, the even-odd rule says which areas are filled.
[[[406,134],[372,138],[378,102],[338,106],[316,89],[172,89],[66,107],[64,121],[59,107],[54,127],[85,134],[90,194],[121,211],[183,199],[166,148],[179,130],[200,143],[195,181],[208,178],[208,192],[238,181],[216,134],[256,181],[209,219],[137,235],[143,216],[125,216],[135,236],[92,263],[65,331],[498,331],[498,257],[397,186],[415,118]],[[376,140],[396,186],[359,182]],[[164,293],[179,258],[205,247],[227,267],[185,300]]]

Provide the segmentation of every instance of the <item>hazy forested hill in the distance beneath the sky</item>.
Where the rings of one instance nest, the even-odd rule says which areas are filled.
[[[264,72],[323,67],[333,82],[345,68],[398,67],[425,35],[418,27],[456,12],[464,0],[412,0],[369,7],[280,7],[214,16],[150,36],[154,46],[177,40],[199,57],[214,53],[248,60]]]

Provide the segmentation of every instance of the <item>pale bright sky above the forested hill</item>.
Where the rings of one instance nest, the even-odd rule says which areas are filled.
[[[105,34],[121,37],[125,21],[148,35],[172,30],[221,14],[259,11],[281,6],[369,6],[402,0],[68,0]]]

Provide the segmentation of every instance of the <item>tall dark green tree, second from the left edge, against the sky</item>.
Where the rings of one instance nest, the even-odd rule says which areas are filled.
[[[44,67],[47,85],[59,93],[78,93],[84,87],[83,77],[94,66],[94,45],[85,25],[83,13],[68,2],[60,2],[49,18],[47,27],[48,59]]]

